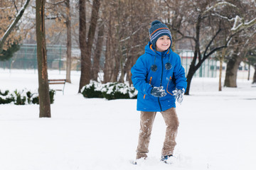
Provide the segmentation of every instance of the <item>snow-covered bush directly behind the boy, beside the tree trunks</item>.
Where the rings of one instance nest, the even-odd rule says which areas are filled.
[[[137,98],[137,93],[134,86],[118,82],[100,84],[93,81],[82,87],[82,95],[86,98],[107,98],[107,100]]]

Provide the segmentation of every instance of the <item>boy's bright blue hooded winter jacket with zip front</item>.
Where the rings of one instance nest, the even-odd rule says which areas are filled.
[[[168,62],[171,67],[166,68]],[[154,64],[157,66],[156,70],[151,69]],[[132,82],[138,91],[137,111],[160,112],[175,108],[176,99],[172,91],[176,88],[186,90],[187,82],[181,58],[171,48],[158,52],[149,42],[144,55],[139,57],[131,71]],[[164,86],[167,95],[161,98],[152,96],[150,92],[154,86]]]

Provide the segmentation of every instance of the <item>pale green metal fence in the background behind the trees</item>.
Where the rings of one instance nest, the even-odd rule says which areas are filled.
[[[181,56],[181,63],[188,73],[189,66],[193,59],[193,51],[191,50],[176,50]],[[80,70],[80,50],[78,47],[72,48],[73,70]],[[48,45],[47,46],[47,62],[48,69],[65,70],[66,62],[66,47],[65,45]],[[0,61],[2,69],[37,69],[36,45],[25,44],[21,45],[20,50],[14,54],[8,61]],[[216,77],[217,61],[210,58],[203,62],[202,66],[194,77]]]

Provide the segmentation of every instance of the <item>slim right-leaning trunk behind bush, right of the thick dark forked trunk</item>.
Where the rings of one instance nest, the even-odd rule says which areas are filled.
[[[97,81],[98,73],[100,72],[100,56],[102,53],[102,45],[104,40],[104,23],[102,22],[97,38],[95,56],[93,58],[93,66],[92,66],[92,79]]]

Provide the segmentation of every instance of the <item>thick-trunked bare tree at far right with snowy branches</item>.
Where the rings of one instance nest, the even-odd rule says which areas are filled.
[[[228,60],[227,70],[225,74],[224,86],[237,87],[238,67],[242,60],[245,59],[247,50],[255,47],[255,31],[256,31],[256,11],[255,1],[235,1],[236,8],[239,8],[239,15],[230,19],[233,21],[231,33],[239,33],[235,35],[230,42],[230,56]]]

